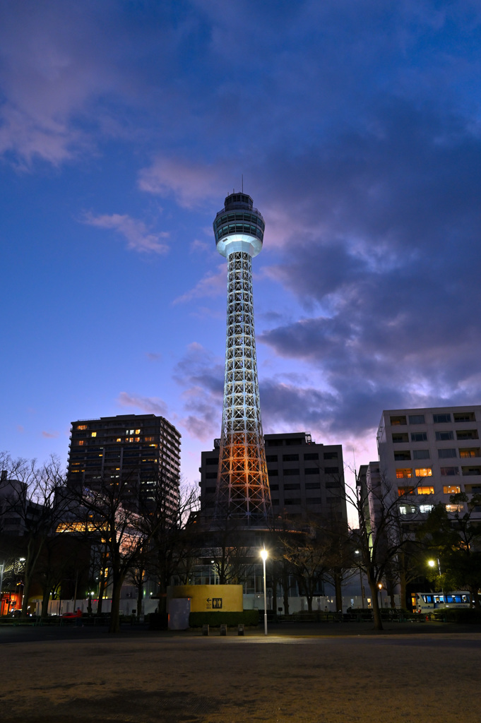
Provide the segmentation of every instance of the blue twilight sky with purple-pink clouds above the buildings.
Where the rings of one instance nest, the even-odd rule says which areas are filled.
[[[480,403],[478,0],[3,0],[0,449],[221,427],[234,187],[265,432],[377,458],[383,408]]]

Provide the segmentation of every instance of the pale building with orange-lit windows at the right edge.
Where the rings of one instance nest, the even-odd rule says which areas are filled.
[[[383,411],[378,429],[379,471],[384,486],[403,495],[406,523],[422,521],[437,502],[448,513],[467,503],[451,495],[481,493],[481,406],[426,407]],[[481,508],[471,510],[481,519]]]

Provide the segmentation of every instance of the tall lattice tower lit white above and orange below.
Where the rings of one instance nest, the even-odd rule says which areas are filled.
[[[263,247],[264,220],[244,193],[226,197],[213,223],[227,258],[227,332],[224,408],[216,487],[216,518],[261,526],[271,516],[271,494],[255,356],[252,257]]]

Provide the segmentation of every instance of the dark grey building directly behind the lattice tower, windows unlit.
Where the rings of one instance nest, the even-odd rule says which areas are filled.
[[[308,520],[318,515],[347,524],[341,445],[312,442],[305,432],[265,435],[265,458],[274,519]],[[201,455],[200,518],[213,518],[220,440]]]

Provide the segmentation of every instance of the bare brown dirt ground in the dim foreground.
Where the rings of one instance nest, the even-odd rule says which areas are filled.
[[[338,629],[10,631],[0,638],[0,720],[480,722],[481,633]]]

